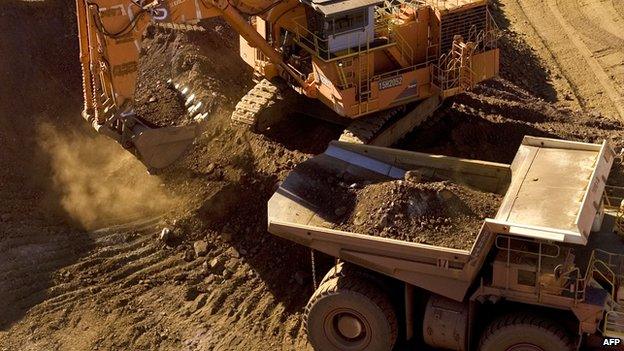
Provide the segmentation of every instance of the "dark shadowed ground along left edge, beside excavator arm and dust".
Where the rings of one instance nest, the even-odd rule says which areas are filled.
[[[0,330],[49,298],[56,271],[91,247],[67,220],[37,126],[80,121],[75,23],[64,1],[9,2],[0,11]],[[54,33],[54,45],[42,40]],[[75,57],[75,60],[68,58]]]

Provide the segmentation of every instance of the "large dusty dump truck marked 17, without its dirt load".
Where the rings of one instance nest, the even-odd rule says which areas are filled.
[[[615,158],[606,142],[530,136],[511,164],[332,142],[268,202],[270,233],[338,261],[305,308],[310,343],[554,351],[624,337],[624,245],[599,231]],[[414,243],[336,229],[310,169],[367,183],[417,171],[502,200],[469,250]]]

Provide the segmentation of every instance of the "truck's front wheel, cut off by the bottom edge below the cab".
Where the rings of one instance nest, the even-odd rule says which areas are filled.
[[[494,321],[481,337],[481,351],[571,351],[575,347],[559,325],[531,314]]]

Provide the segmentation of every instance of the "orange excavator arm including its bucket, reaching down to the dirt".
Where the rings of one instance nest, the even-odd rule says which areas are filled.
[[[192,142],[197,126],[153,129],[135,116],[133,96],[145,28],[150,23],[194,25],[204,18],[223,17],[280,74],[306,91],[306,77],[286,64],[246,19],[279,18],[298,5],[297,0],[76,0],[84,118],[148,168],[166,167]]]

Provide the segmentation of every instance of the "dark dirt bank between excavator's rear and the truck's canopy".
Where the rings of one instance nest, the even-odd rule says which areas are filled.
[[[624,124],[597,111],[557,107],[505,79],[453,98],[403,149],[510,163],[525,135],[624,146]]]

